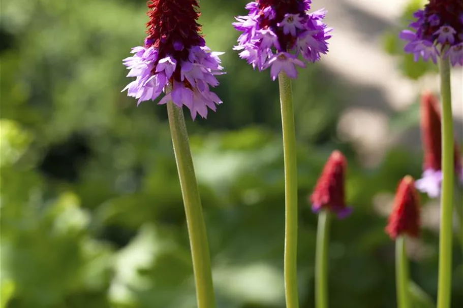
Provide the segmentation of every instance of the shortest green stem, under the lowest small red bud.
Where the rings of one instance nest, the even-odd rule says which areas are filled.
[[[395,240],[395,280],[397,307],[409,308],[409,272],[405,251],[405,235],[400,235]]]

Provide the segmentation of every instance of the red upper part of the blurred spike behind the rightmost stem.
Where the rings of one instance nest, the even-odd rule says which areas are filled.
[[[423,169],[441,170],[442,134],[439,101],[429,91],[421,95],[421,138],[423,142]],[[461,161],[455,143],[455,170],[461,172]]]

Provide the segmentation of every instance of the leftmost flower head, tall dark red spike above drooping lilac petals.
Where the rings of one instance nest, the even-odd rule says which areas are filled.
[[[196,0],[152,0],[147,3],[148,30],[144,46],[132,48],[124,59],[130,70],[127,77],[136,77],[124,90],[138,99],[155,100],[167,93],[158,104],[172,100],[178,107],[187,106],[195,119],[205,118],[207,108],[215,111],[220,98],[209,91],[219,84],[214,75],[220,71],[220,52],[210,52],[200,35]],[[122,91],[124,91],[122,90]]]

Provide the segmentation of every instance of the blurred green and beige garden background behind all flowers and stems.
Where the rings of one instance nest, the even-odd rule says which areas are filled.
[[[282,308],[284,186],[277,84],[231,48],[245,0],[202,0],[200,22],[227,75],[224,104],[187,120],[219,308]],[[352,216],[332,225],[330,306],[395,307],[394,243],[384,233],[397,182],[421,175],[419,94],[436,68],[397,33],[421,0],[314,0],[330,52],[294,82],[299,288],[313,307],[317,216],[307,203],[334,149],[348,158]],[[120,90],[122,58],[144,39],[145,0],[3,0],[1,307],[193,308],[194,280],[165,106]],[[461,68],[453,72],[462,141]],[[439,204],[422,195],[410,241],[414,307],[437,294]],[[454,245],[452,307],[463,306]],[[427,295],[426,295],[427,294]],[[432,305],[431,305],[432,306]]]

